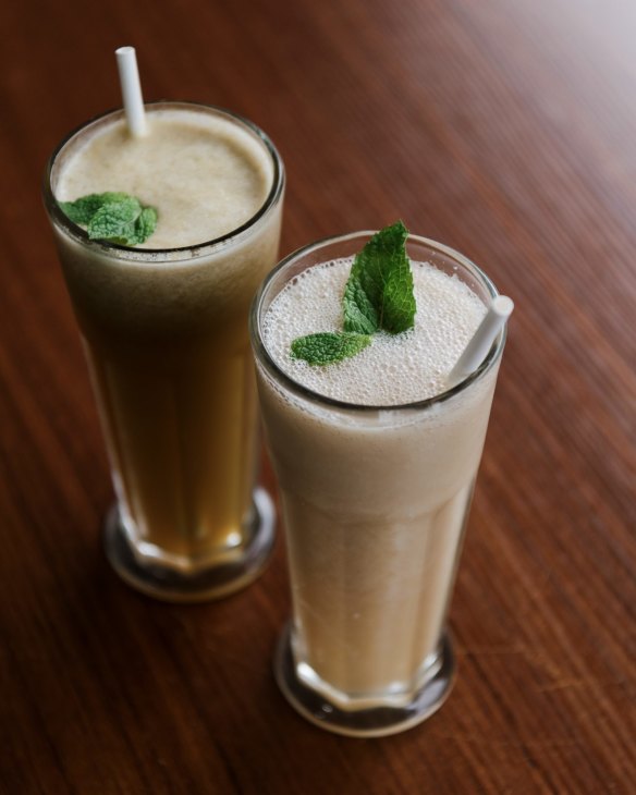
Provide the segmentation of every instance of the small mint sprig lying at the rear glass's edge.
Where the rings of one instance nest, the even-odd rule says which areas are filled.
[[[71,221],[86,227],[90,240],[136,246],[145,243],[157,227],[155,207],[144,207],[126,193],[91,193],[59,204]]]

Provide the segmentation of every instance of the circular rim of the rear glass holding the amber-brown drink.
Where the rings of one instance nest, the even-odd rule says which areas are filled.
[[[97,124],[98,122],[108,119],[109,117],[113,118],[113,121],[115,119],[124,118],[124,110],[123,108],[113,108],[111,110],[107,110],[103,113],[99,113],[98,115],[93,117],[91,119],[88,119],[87,121],[83,122],[78,126],[76,126],[74,130],[72,130],[70,133],[68,133],[62,140],[56,146],[52,154],[50,155],[49,159],[47,160],[47,164],[45,167],[45,174],[42,179],[42,196],[45,201],[45,207],[47,209],[47,212],[49,213],[49,217],[54,222],[56,225],[60,227],[68,235],[73,237],[74,240],[78,241],[85,246],[96,247],[100,248],[105,252],[110,253],[111,255],[114,255],[118,259],[124,259],[124,260],[131,260],[135,262],[157,262],[157,261],[174,261],[178,262],[180,260],[184,259],[194,259],[198,256],[207,255],[210,253],[210,249],[215,248],[221,248],[229,243],[233,243],[235,238],[238,238],[246,234],[247,232],[252,231],[252,229],[259,223],[261,219],[264,219],[266,216],[269,215],[271,210],[273,210],[274,207],[279,204],[279,200],[282,196],[284,184],[285,184],[285,171],[282,158],[273,145],[273,142],[271,138],[265,133],[257,124],[249,121],[249,119],[246,119],[245,117],[242,117],[238,113],[235,113],[232,110],[229,110],[227,108],[221,108],[216,105],[209,105],[206,102],[196,102],[191,100],[170,100],[170,99],[159,99],[152,102],[146,102],[146,108],[149,108],[150,110],[159,109],[159,107],[167,107],[167,108],[200,108],[205,109],[207,111],[213,111],[215,113],[225,117],[229,121],[232,122],[238,122],[240,125],[242,125],[244,129],[246,129],[248,132],[253,133],[257,138],[260,139],[260,142],[265,145],[265,148],[267,149],[269,156],[271,157],[271,162],[273,166],[273,173],[272,173],[272,180],[271,180],[271,187],[270,191],[265,198],[264,203],[260,205],[258,210],[245,221],[245,223],[241,224],[241,227],[237,227],[236,229],[231,230],[230,232],[220,235],[219,237],[215,237],[209,241],[204,241],[201,243],[195,243],[194,245],[187,245],[187,246],[176,246],[173,248],[143,248],[143,247],[133,247],[133,246],[122,246],[118,243],[109,243],[108,241],[100,241],[100,240],[90,240],[88,237],[88,234],[86,230],[82,229],[82,227],[77,225],[71,219],[62,211],[60,205],[58,204],[58,200],[56,199],[56,196],[53,194],[52,187],[51,187],[51,175],[53,172],[53,168],[56,166],[56,161],[60,152],[64,149],[64,147],[81,132],[88,129],[89,126]],[[187,255],[187,256],[184,256]]]

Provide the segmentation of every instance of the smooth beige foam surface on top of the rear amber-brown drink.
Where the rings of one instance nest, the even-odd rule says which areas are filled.
[[[123,192],[156,207],[159,220],[143,248],[176,248],[220,237],[246,223],[272,182],[264,147],[235,124],[185,109],[147,114],[148,134],[130,135],[120,119],[77,147],[56,197]]]

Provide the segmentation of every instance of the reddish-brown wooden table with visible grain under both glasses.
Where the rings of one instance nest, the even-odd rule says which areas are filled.
[[[636,791],[635,17],[620,0],[3,4],[2,795]],[[457,683],[402,735],[341,738],[282,699],[282,545],[198,607],[105,561],[108,468],[39,180],[119,105],[122,44],[147,99],[231,107],[277,142],[283,253],[401,217],[516,302]]]

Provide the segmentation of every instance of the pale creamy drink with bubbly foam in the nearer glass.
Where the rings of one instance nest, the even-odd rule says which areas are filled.
[[[367,237],[283,264],[253,334],[294,608],[279,682],[309,719],[372,735],[423,720],[450,684],[444,624],[502,340],[478,377],[437,399],[493,289],[411,237],[415,328],[328,367],[291,358],[295,338],[342,328],[350,255]]]

